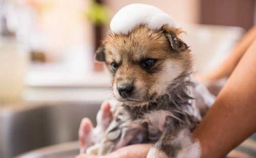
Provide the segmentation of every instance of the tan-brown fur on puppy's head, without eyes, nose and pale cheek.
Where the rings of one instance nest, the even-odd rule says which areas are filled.
[[[96,59],[103,59],[106,67],[113,74],[113,86],[126,81],[139,82],[143,86],[135,87],[135,93],[132,95],[135,100],[124,101],[116,97],[117,100],[130,105],[139,105],[158,97],[158,92],[153,85],[156,85],[156,82],[159,82],[158,79],[163,77],[161,70],[166,66],[166,62],[179,64],[182,71],[191,70],[190,50],[178,37],[182,32],[181,29],[167,26],[159,30],[150,30],[145,25],[140,25],[128,35],[113,33],[108,35],[96,52],[98,55]],[[175,41],[172,43],[170,36],[177,38],[178,43]],[[175,44],[177,46],[174,46]],[[151,70],[154,73],[141,69],[140,62],[144,59],[156,59]],[[117,71],[113,71],[112,62],[119,65]],[[115,87],[113,88],[115,91]]]

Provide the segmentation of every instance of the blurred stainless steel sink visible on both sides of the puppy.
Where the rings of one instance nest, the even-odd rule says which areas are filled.
[[[79,153],[80,121],[86,116],[95,124],[99,107],[96,103],[58,103],[0,111],[0,157],[74,157]],[[256,134],[227,157],[255,156]]]

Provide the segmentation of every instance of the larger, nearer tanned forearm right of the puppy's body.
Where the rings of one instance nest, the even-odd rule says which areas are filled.
[[[246,51],[193,136],[203,157],[224,157],[256,130],[256,41]]]

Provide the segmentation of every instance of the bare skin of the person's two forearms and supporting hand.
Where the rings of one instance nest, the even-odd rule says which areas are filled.
[[[256,36],[255,27],[251,31]],[[245,36],[236,47],[239,50],[234,49],[226,59],[227,65],[223,63],[217,68],[224,66],[223,70],[211,76],[211,79],[219,79],[231,74],[214,105],[193,132],[193,137],[200,142],[202,157],[224,157],[256,131],[256,41],[251,43],[251,40],[251,35]],[[250,46],[249,49],[246,46]],[[126,146],[101,157],[146,157],[151,146]]]

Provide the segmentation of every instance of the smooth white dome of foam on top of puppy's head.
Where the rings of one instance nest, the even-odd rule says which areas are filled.
[[[144,4],[131,4],[116,13],[110,22],[110,29],[115,34],[128,34],[140,24],[146,24],[152,30],[160,29],[163,25],[175,27],[173,19],[159,8]]]

